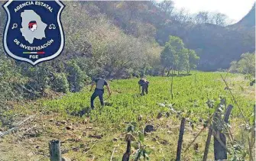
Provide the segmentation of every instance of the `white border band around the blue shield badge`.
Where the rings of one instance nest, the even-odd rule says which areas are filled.
[[[61,37],[61,42],[60,42],[60,48],[59,50],[57,50],[56,53],[54,53],[53,55],[51,56],[47,56],[47,57],[44,57],[44,58],[41,58],[35,62],[27,59],[27,58],[24,58],[24,57],[20,57],[20,56],[15,56],[15,54],[11,53],[11,51],[8,49],[8,46],[7,46],[7,31],[8,31],[8,27],[10,25],[10,21],[11,21],[11,16],[10,16],[10,12],[8,10],[8,5],[10,5],[11,2],[13,2],[14,0],[10,0],[8,2],[5,3],[4,7],[5,7],[5,11],[7,12],[8,14],[8,22],[6,24],[6,27],[5,27],[5,34],[4,34],[4,48],[5,48],[5,51],[8,53],[9,56],[11,56],[12,58],[15,58],[16,60],[21,60],[21,61],[25,61],[25,62],[28,62],[28,63],[31,63],[33,66],[35,66],[37,63],[41,63],[41,62],[44,62],[44,61],[47,61],[47,60],[53,60],[54,58],[56,58],[57,56],[60,55],[60,53],[63,51],[64,49],[64,32],[63,32],[63,27],[62,27],[62,24],[60,22],[60,14],[61,12],[63,11],[63,8],[65,7],[61,2],[59,2],[58,0],[55,0],[55,2],[57,2],[58,5],[60,5],[60,11],[58,12],[58,15],[57,15],[57,22],[59,24],[59,27],[60,27],[60,37]]]

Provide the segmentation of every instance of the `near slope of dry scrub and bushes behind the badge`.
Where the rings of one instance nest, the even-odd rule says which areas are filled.
[[[94,2],[65,4],[62,19],[66,46],[62,56],[34,67],[6,58],[0,47],[2,100],[40,98],[45,89],[79,92],[96,74],[129,78],[134,72],[144,73],[160,65],[161,47],[153,38],[156,31],[151,24],[140,27],[142,24],[135,23],[138,28],[134,35],[128,35],[101,14]],[[131,6],[141,7],[134,2],[122,7],[132,9]],[[6,21],[4,13],[0,8],[0,35]],[[129,15],[134,16],[133,13]]]

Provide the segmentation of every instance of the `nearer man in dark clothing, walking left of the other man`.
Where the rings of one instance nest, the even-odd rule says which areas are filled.
[[[92,88],[93,88],[93,86],[95,85],[95,82],[96,82],[96,89],[95,89],[95,91],[93,92],[92,97],[91,97],[91,108],[92,108],[92,109],[94,108],[93,101],[94,101],[94,99],[95,99],[97,96],[99,96],[100,104],[101,104],[102,106],[104,106],[104,100],[103,100],[104,85],[107,86],[107,89],[108,89],[108,92],[109,92],[109,96],[111,95],[111,91],[110,91],[110,88],[109,88],[109,84],[108,84],[108,82],[105,80],[105,76],[101,76],[100,78],[97,78],[97,79],[94,80],[94,82],[92,82],[92,86],[91,86],[90,92],[92,91]]]

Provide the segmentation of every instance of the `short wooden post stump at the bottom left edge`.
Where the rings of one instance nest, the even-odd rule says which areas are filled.
[[[49,142],[50,161],[61,161],[60,140],[51,140]]]

